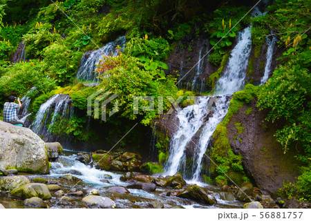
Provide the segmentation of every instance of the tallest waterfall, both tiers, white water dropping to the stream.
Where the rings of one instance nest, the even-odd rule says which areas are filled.
[[[222,122],[229,108],[229,97],[244,87],[249,54],[252,50],[251,26],[238,33],[238,42],[232,50],[225,73],[218,79],[216,94],[198,97],[195,104],[178,112],[178,131],[170,142],[169,159],[165,164],[166,173],[173,175],[182,166],[191,171],[191,182],[198,182],[202,170],[202,160],[216,126]],[[195,141],[194,141],[195,140]],[[187,148],[194,146],[194,160],[189,168]],[[185,171],[183,172],[185,175]]]

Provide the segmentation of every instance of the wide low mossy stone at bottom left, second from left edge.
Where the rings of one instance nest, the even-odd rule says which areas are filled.
[[[51,198],[50,191],[46,184],[30,183],[23,186],[19,186],[17,189],[10,191],[10,195],[23,200],[38,197],[42,200],[49,200]]]

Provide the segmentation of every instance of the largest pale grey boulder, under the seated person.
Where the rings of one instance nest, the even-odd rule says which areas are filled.
[[[0,121],[0,167],[27,173],[49,173],[48,153],[29,128]]]

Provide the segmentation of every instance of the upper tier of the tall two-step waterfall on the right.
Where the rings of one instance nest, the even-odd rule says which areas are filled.
[[[243,90],[249,54],[252,50],[250,31],[251,26],[248,26],[238,33],[238,43],[232,50],[225,73],[217,81],[216,94],[233,94]]]

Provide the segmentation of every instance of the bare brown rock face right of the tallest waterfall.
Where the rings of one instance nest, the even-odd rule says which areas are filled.
[[[249,115],[245,113],[247,108],[252,108]],[[281,125],[266,122],[266,116],[267,112],[258,111],[256,101],[245,104],[227,125],[227,138],[234,153],[243,156],[243,166],[252,174],[256,184],[275,193],[283,187],[284,181],[293,182],[299,175],[299,162],[294,159],[294,148],[283,153],[281,144],[274,137]],[[245,131],[237,135],[234,123],[241,123]]]

